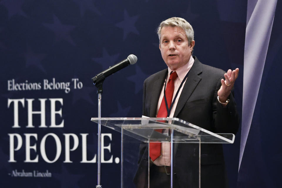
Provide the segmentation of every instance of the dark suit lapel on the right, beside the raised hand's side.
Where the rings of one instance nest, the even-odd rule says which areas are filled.
[[[199,81],[202,79],[199,76],[199,74],[202,73],[202,63],[197,59],[197,57],[194,57],[194,59],[194,64],[189,70],[189,75],[183,86],[173,117],[177,117],[177,115],[179,114],[179,112],[184,107],[185,103],[195,90]]]

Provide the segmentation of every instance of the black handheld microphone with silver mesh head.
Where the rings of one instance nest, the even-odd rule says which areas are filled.
[[[95,75],[92,80],[93,84],[98,84],[101,81],[104,81],[106,77],[112,75],[113,73],[119,71],[122,68],[129,66],[130,64],[133,65],[136,63],[137,57],[133,54],[129,55],[126,59],[120,61],[119,63],[115,64],[114,66],[100,72],[99,74]]]

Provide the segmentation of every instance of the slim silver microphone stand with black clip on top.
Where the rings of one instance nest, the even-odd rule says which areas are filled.
[[[97,87],[98,93],[98,117],[101,118],[101,98],[103,93],[103,82],[105,80],[104,74],[96,75],[92,78],[93,84]],[[98,121],[98,173],[96,188],[102,188],[100,183],[101,178],[101,120]]]

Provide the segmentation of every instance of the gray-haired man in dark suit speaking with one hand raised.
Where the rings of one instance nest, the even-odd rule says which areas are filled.
[[[239,127],[239,117],[231,90],[239,69],[229,69],[225,73],[202,64],[196,56],[192,56],[194,31],[185,19],[173,17],[162,21],[157,33],[167,69],[145,80],[143,115],[177,117],[215,133],[235,134]],[[170,106],[172,108],[168,110]],[[147,152],[148,145],[141,145],[139,167],[135,175],[137,187],[147,187]],[[201,188],[227,187],[222,145],[201,144],[200,153]],[[193,187],[193,182],[197,181],[197,174],[187,173],[193,166],[189,160],[191,155],[192,145],[178,144],[174,188]],[[169,143],[150,143],[150,162],[150,188],[170,187]]]

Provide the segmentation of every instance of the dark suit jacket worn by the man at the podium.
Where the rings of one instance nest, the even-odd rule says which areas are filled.
[[[225,108],[217,101],[217,91],[221,86],[221,79],[224,78],[225,72],[202,64],[194,56],[193,58],[195,61],[189,70],[174,117],[215,133],[235,134],[239,128],[239,117],[232,93]],[[167,69],[155,73],[145,80],[143,86],[143,115],[156,117],[157,103],[166,76]],[[174,169],[180,187],[187,187],[188,184],[197,180],[195,176],[198,174],[189,172],[193,165],[197,165],[189,157],[192,156],[190,154],[193,154],[194,151],[193,144],[178,144],[177,146]],[[135,176],[135,182],[144,182],[145,187],[147,152],[147,144],[141,144],[139,167]],[[201,187],[219,188],[226,187],[226,185],[222,145],[201,144]]]

